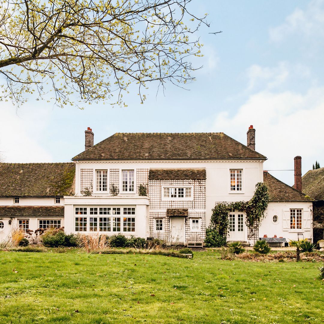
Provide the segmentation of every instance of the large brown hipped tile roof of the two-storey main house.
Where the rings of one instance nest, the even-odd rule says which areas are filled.
[[[115,133],[73,160],[265,158],[224,133]]]

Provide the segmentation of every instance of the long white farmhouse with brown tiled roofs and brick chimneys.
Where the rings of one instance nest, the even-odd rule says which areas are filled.
[[[264,181],[271,200],[266,218],[250,228],[244,212],[232,211],[228,240],[253,244],[264,235],[287,241],[298,235],[312,238],[312,202],[301,188],[293,189],[263,171],[266,157],[255,151],[253,126],[247,133],[247,146],[224,133],[116,133],[96,145],[90,128],[85,135],[85,151],[72,159],[74,163],[62,164],[73,172],[75,167],[73,188],[61,185],[72,184],[71,174],[58,180],[57,172],[52,176],[56,188],[52,190],[45,170],[39,167],[39,183],[45,178],[47,189],[31,187],[26,195],[19,191],[19,168],[26,174],[26,165],[0,164],[0,237],[13,224],[24,228],[21,221],[36,229],[49,220],[46,226],[64,224],[67,233],[122,233],[187,245],[189,237],[205,237],[216,203],[248,201],[256,183]],[[295,180],[301,184],[301,162],[296,158]],[[54,170],[59,164],[45,165]],[[9,172],[10,166],[13,171]],[[49,209],[55,208],[55,197],[64,206],[64,220]],[[29,207],[24,212],[13,209],[22,205]],[[47,214],[37,214],[40,205],[47,206]]]

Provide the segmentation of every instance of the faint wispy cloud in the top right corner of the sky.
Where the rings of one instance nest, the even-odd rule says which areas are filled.
[[[296,8],[283,24],[269,29],[271,41],[283,41],[291,34],[300,36],[322,35],[324,28],[324,1],[311,1],[305,10]],[[316,37],[315,37],[316,39]]]

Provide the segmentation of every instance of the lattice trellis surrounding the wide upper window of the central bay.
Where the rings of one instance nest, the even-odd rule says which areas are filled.
[[[193,187],[193,200],[162,199],[163,187]],[[149,180],[151,209],[165,208],[206,208],[206,180]]]

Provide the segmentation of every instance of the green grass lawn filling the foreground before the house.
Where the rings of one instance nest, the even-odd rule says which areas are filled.
[[[0,323],[322,323],[320,263],[0,251]],[[17,271],[17,272],[15,272]]]

